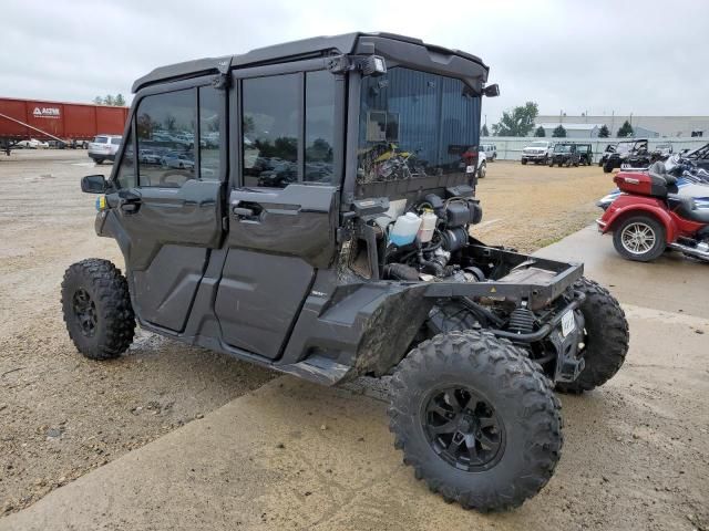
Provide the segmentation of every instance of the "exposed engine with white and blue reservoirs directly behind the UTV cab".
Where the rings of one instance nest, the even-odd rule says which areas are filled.
[[[470,236],[471,227],[483,217],[473,194],[473,188],[459,186],[445,188],[444,194],[429,192],[415,201],[384,198],[356,201],[347,266],[368,280],[520,281],[520,270],[534,266],[535,260],[520,256],[511,261],[508,257],[485,256],[471,247],[471,242],[483,246]],[[540,267],[535,270],[534,280],[540,282],[557,274]],[[508,274],[513,277],[506,280]]]

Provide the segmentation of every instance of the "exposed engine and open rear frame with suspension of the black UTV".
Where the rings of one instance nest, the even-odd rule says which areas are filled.
[[[453,330],[482,327],[522,346],[556,381],[573,381],[578,357],[582,264],[556,262],[490,247],[470,236],[482,208],[467,187],[354,205],[343,244],[348,271],[370,281],[424,288],[431,311],[417,341]],[[352,280],[352,279],[349,279]],[[391,309],[394,314],[402,308]],[[573,333],[564,315],[575,315]]]

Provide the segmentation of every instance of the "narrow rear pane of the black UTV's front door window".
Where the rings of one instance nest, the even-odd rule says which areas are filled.
[[[212,86],[199,88],[199,178],[219,180],[222,147],[222,93]]]

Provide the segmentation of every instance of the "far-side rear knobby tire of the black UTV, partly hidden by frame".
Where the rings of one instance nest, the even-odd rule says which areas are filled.
[[[586,294],[580,306],[586,366],[576,381],[556,384],[563,393],[583,393],[608,382],[623,366],[630,341],[625,312],[608,290],[588,279],[576,281],[574,289]]]

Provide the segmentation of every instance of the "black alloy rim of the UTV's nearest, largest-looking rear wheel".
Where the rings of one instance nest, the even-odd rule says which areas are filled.
[[[467,387],[433,392],[421,418],[433,451],[456,469],[485,470],[502,457],[504,426],[492,405]]]

